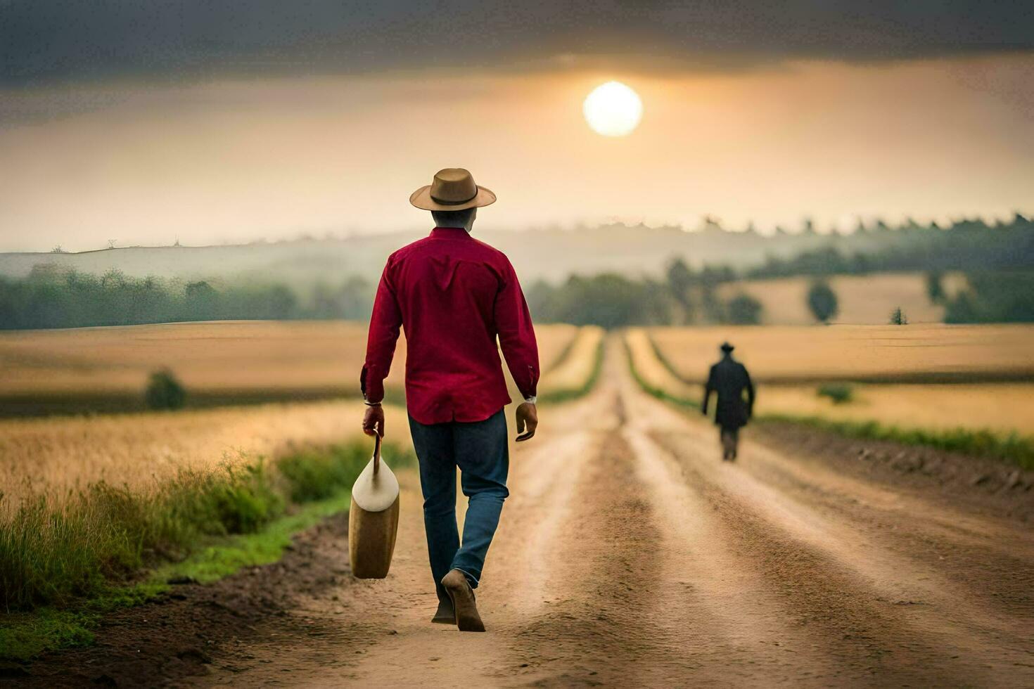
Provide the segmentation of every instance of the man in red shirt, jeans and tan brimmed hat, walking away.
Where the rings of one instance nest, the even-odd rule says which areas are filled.
[[[409,196],[430,211],[430,237],[388,257],[360,376],[363,431],[384,436],[384,379],[399,327],[405,328],[405,405],[420,460],[427,550],[438,594],[432,622],[484,631],[474,589],[498,526],[509,446],[503,407],[510,402],[498,348],[524,398],[517,440],[539,424],[539,350],[524,294],[503,252],[470,237],[477,209],[495,201],[465,169],[447,168]],[[498,339],[498,348],[496,347]],[[456,527],[456,467],[467,497],[463,541]]]

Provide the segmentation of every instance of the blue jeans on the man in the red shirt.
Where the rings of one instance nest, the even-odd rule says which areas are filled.
[[[451,569],[462,571],[470,586],[478,588],[503,501],[510,495],[507,418],[501,409],[473,424],[425,425],[410,416],[409,431],[420,460],[431,574],[438,598],[449,600],[442,577]],[[467,497],[462,545],[456,528],[456,467],[462,472],[463,495]]]

